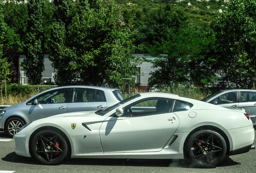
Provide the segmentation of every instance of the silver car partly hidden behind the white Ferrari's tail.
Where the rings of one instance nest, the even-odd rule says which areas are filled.
[[[244,108],[256,125],[256,90],[231,89],[214,93],[202,101],[226,108]]]

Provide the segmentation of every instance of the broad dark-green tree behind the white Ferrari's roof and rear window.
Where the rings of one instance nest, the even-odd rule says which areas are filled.
[[[150,49],[158,57],[153,61],[158,70],[152,73],[149,85],[211,85],[216,79],[211,68],[215,62],[210,53],[213,44],[214,34],[207,25],[170,30],[169,39],[162,39]]]

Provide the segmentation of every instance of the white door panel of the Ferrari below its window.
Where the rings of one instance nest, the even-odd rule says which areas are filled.
[[[100,128],[103,152],[160,151],[178,126],[179,119],[174,113],[108,117]]]

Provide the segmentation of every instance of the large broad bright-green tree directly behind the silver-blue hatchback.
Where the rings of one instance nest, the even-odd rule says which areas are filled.
[[[51,56],[58,82],[121,87],[122,78],[136,76],[140,60],[132,56],[132,38],[120,6],[114,1],[103,6],[98,0],[82,0],[77,11],[67,29],[65,22],[54,26],[60,31],[60,49],[53,51],[61,50],[61,56]]]

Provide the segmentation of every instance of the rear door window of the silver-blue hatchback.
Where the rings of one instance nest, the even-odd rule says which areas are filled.
[[[94,102],[95,89],[75,88],[72,102]]]

